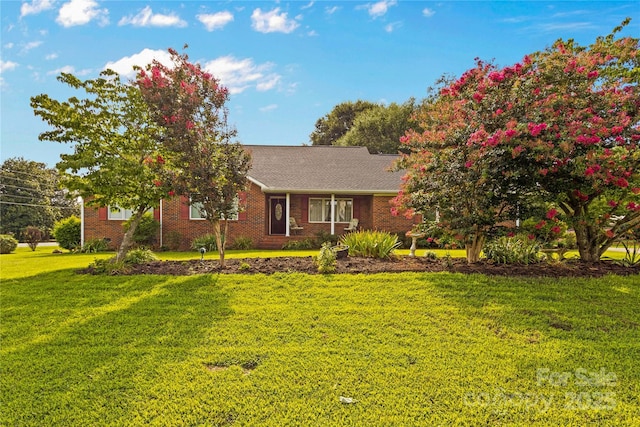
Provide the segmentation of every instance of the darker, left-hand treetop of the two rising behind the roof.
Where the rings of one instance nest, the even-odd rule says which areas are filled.
[[[335,145],[353,126],[356,117],[363,111],[377,107],[369,101],[343,102],[316,121],[314,131],[309,135],[312,145]]]

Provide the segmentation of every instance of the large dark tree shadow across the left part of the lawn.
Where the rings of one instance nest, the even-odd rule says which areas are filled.
[[[16,280],[3,289],[0,424],[122,420],[158,367],[189,358],[232,314],[216,284],[209,275],[87,278],[68,271]]]

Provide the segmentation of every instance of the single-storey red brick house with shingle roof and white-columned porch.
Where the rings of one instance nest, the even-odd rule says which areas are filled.
[[[253,247],[279,249],[289,240],[319,233],[341,235],[352,219],[358,228],[404,233],[415,221],[391,214],[403,172],[389,169],[393,155],[372,155],[366,147],[245,146],[252,167],[246,191],[238,195],[239,213],[229,218],[228,247],[249,238]],[[162,200],[153,212],[160,223],[159,246],[188,249],[212,233],[211,225],[186,197]],[[122,224],[131,212],[117,206],[82,208],[83,242],[122,241]],[[292,220],[291,220],[292,218]],[[295,222],[295,225],[292,223]]]

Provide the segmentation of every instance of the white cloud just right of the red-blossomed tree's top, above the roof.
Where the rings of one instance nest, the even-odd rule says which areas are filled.
[[[223,56],[207,62],[203,67],[229,89],[229,93],[240,93],[255,86],[259,91],[274,88],[280,75],[271,72],[273,64],[257,65],[251,58],[236,59]]]

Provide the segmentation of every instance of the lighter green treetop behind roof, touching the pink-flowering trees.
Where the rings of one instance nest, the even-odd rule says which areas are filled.
[[[333,145],[367,147],[371,154],[397,154],[406,147],[400,138],[413,121],[415,99],[403,104],[376,105],[361,111],[349,130]]]

